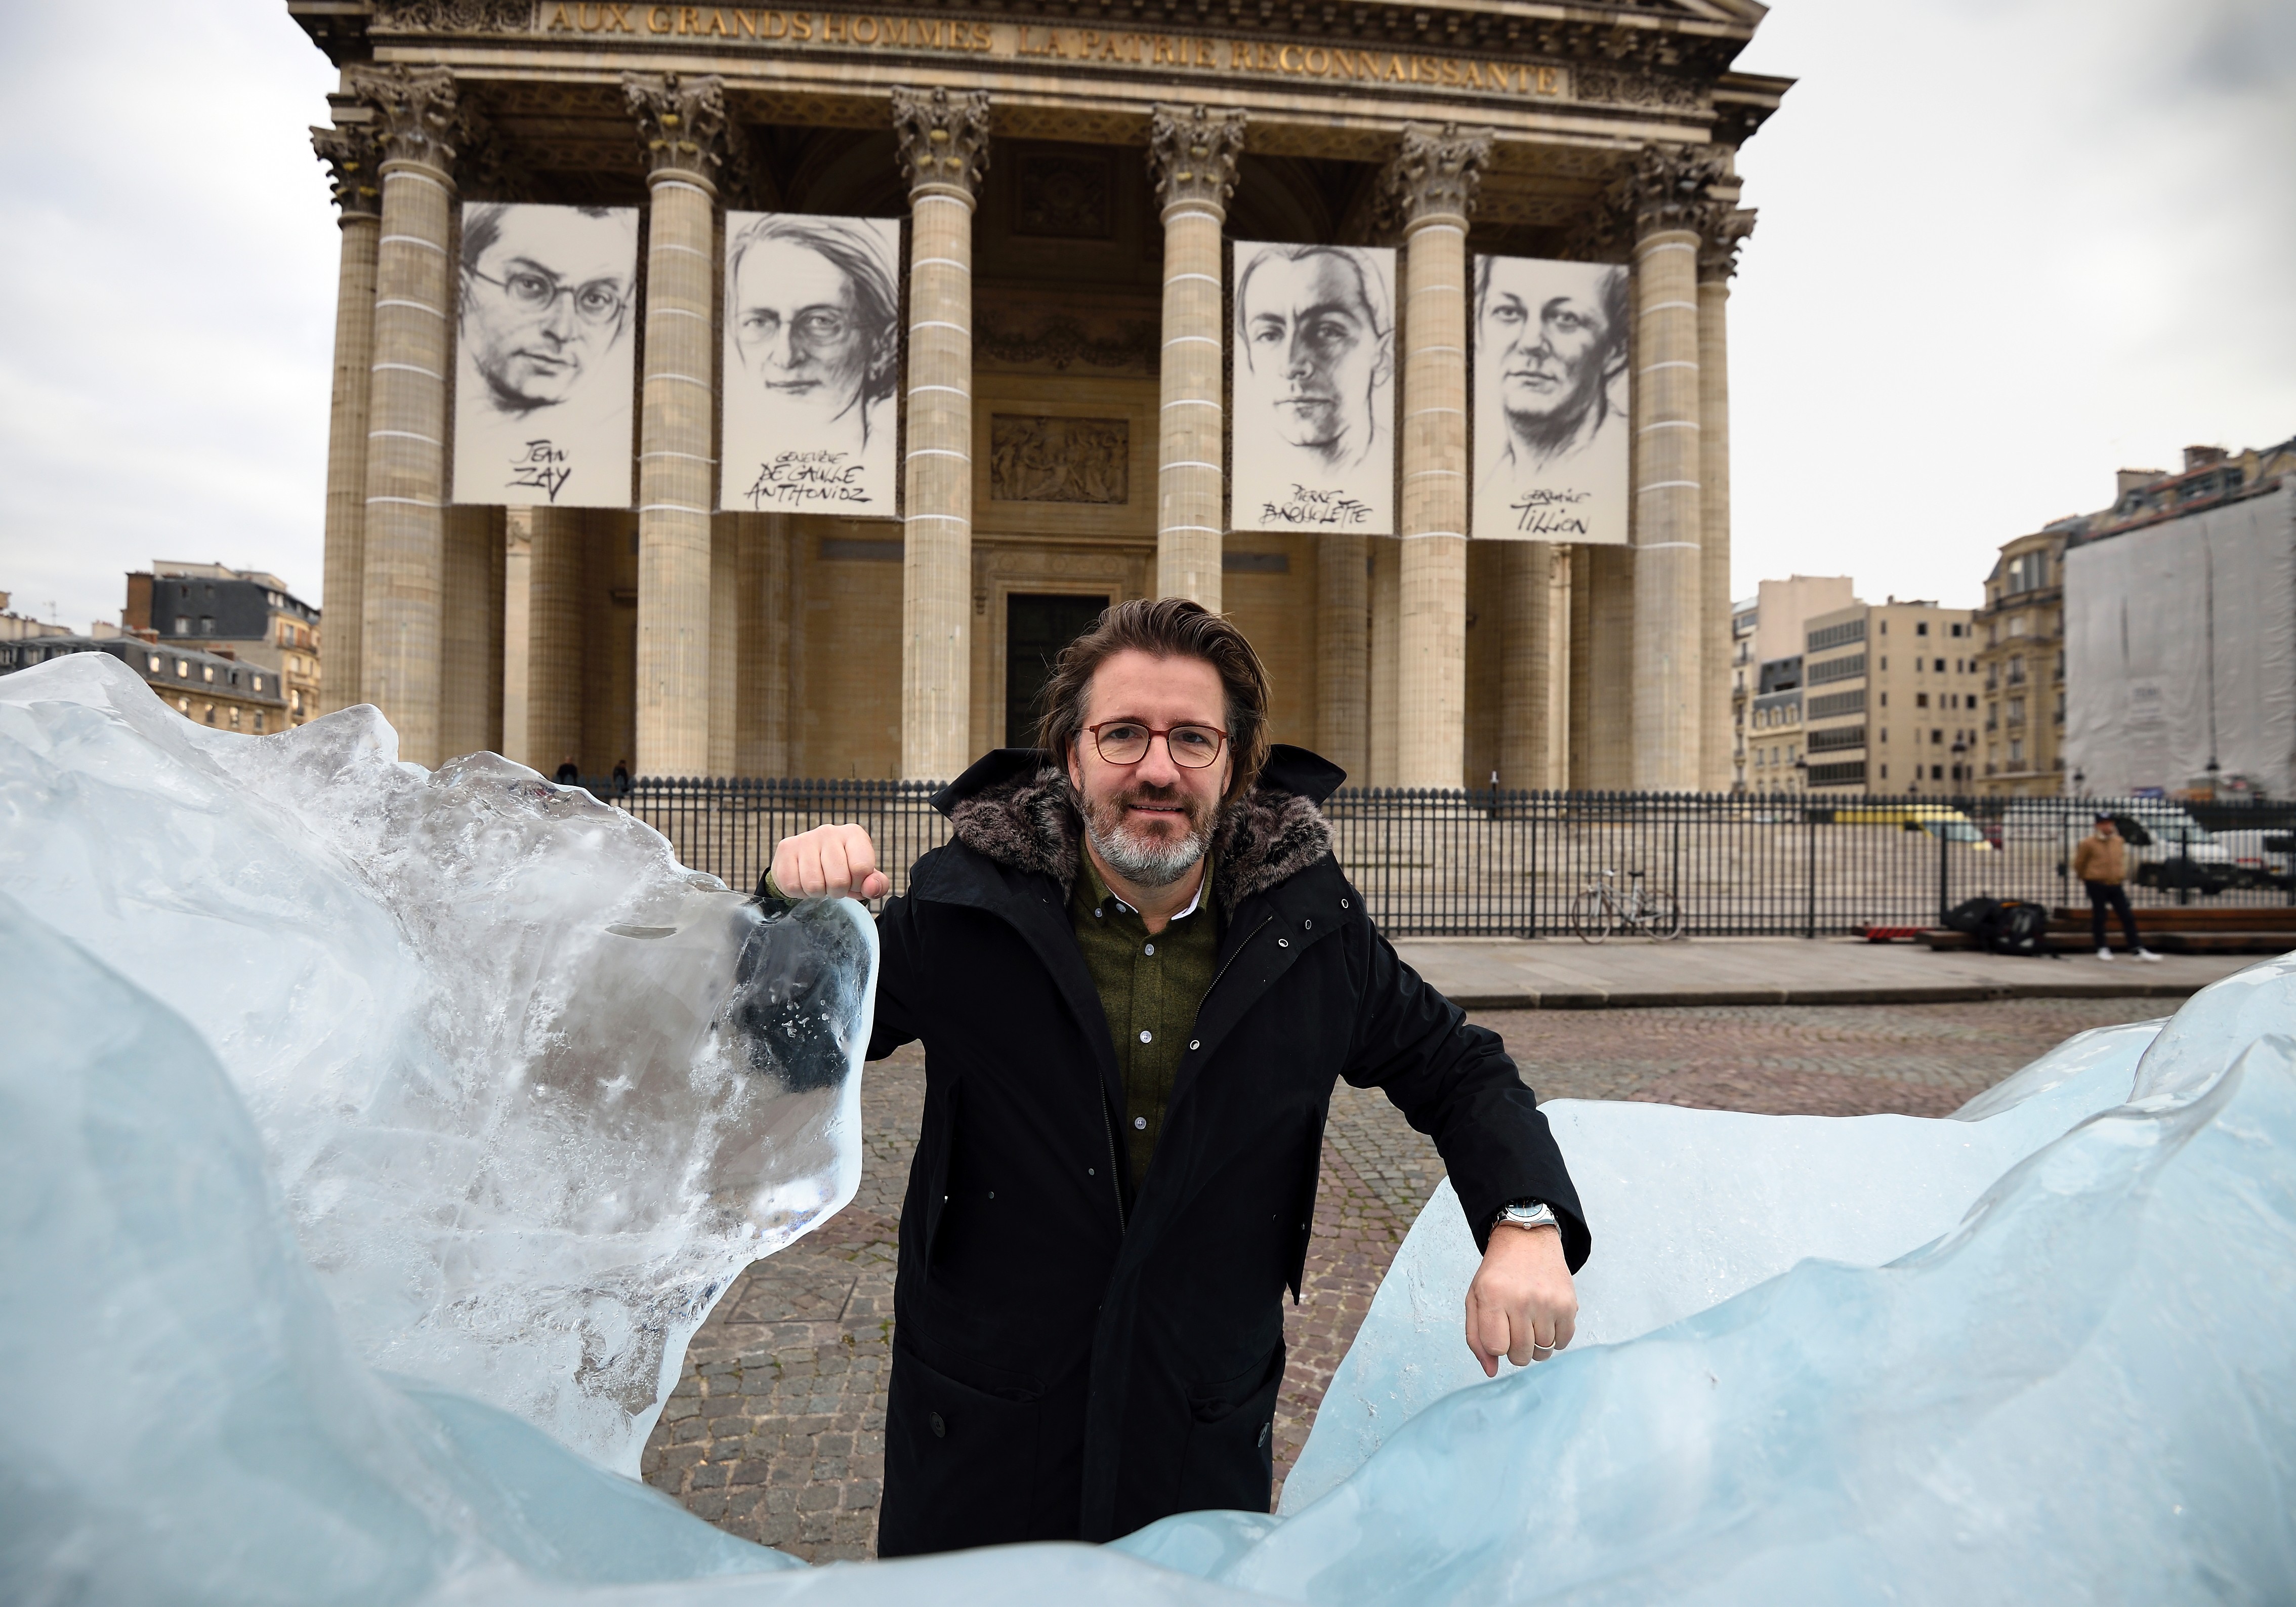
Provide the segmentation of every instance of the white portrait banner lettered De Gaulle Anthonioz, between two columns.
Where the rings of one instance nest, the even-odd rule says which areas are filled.
[[[719,505],[893,519],[900,220],[726,214]]]

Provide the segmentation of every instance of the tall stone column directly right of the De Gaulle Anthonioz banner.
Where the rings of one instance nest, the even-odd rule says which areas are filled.
[[[893,90],[893,138],[909,184],[900,774],[955,781],[974,758],[974,193],[990,96]]]

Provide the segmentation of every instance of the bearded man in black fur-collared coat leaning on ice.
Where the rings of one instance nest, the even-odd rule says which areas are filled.
[[[1038,735],[934,797],[953,840],[877,923],[870,1058],[925,1045],[884,1556],[1267,1511],[1339,1077],[1442,1150],[1486,1247],[1486,1373],[1552,1357],[1577,1313],[1589,1235],[1545,1116],[1368,921],[1318,808],[1343,776],[1270,746],[1244,636],[1118,604],[1061,652]],[[891,882],[861,826],[817,826],[760,891]]]

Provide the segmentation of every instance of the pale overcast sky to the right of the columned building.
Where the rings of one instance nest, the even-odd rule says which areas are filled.
[[[2296,434],[2296,9],[1782,0],[1740,170],[1733,590],[1972,604],[2119,466]]]

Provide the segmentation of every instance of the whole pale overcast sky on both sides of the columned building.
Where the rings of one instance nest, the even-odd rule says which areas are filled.
[[[154,558],[319,599],[333,69],[276,0],[14,7],[0,590],[117,618]],[[2124,464],[2296,434],[2296,5],[1782,0],[1745,149],[1736,583],[1977,601]]]

